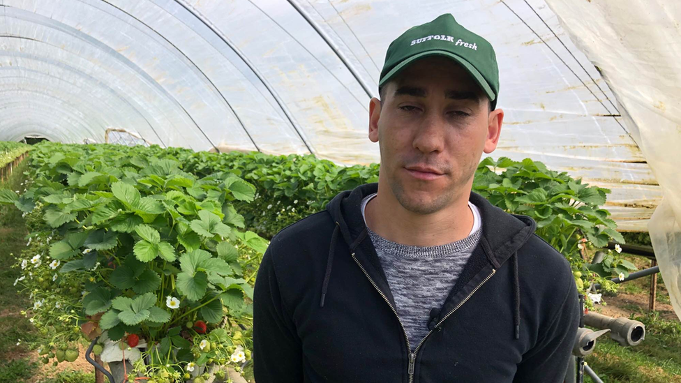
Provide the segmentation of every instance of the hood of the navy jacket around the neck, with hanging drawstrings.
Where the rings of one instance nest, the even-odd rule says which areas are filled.
[[[364,197],[376,193],[377,190],[377,183],[368,183],[358,186],[353,190],[346,190],[339,193],[331,202],[329,202],[329,204],[327,204],[327,211],[336,223],[336,228],[331,235],[331,246],[329,246],[327,269],[324,273],[324,282],[322,283],[320,307],[324,307],[324,297],[327,293],[329,278],[331,278],[338,234],[340,234],[343,241],[347,243],[347,246],[350,248],[350,253],[353,253],[354,255],[355,249],[364,242],[364,239],[366,239],[367,236],[366,223],[364,222],[364,217],[361,213],[361,202]],[[530,236],[534,234],[537,225],[530,217],[504,212],[502,209],[493,206],[477,193],[471,192],[469,200],[479,209],[482,221],[482,236],[478,246],[481,247],[483,251],[474,254],[484,254],[485,260],[480,260],[472,255],[472,258],[474,259],[472,259],[470,263],[476,264],[478,269],[471,271],[471,269],[474,268],[469,268],[469,273],[467,273],[467,275],[466,273],[463,273],[463,276],[461,276],[460,279],[465,280],[466,278],[470,278],[471,274],[481,269],[482,265],[485,263],[491,264],[494,269],[499,269],[504,262],[509,260],[509,258],[511,259],[511,266],[514,272],[514,278],[511,280],[514,293],[512,298],[514,301],[514,329],[515,338],[518,339],[521,318],[517,252],[518,249],[530,239]],[[371,245],[369,246],[371,247]],[[366,243],[362,248],[367,249]],[[387,285],[387,282],[384,282],[386,278],[382,273],[380,261],[377,259],[375,251],[367,253],[370,253],[368,254],[367,259],[368,263],[372,264],[374,269],[377,270],[377,273],[382,276],[382,281],[384,283],[384,288],[382,290],[389,292],[389,289],[385,288],[387,287],[385,286]],[[459,282],[461,281],[458,281],[456,286],[459,285]],[[463,285],[463,283],[461,283],[461,285]],[[456,286],[454,289],[456,289]],[[392,296],[389,296],[389,299],[392,301]]]

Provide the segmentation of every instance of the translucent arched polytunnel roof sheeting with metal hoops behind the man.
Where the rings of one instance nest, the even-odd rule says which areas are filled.
[[[442,13],[497,52],[493,156],[611,188],[620,230],[646,230],[657,181],[544,0],[0,0],[0,140],[122,128],[161,146],[378,162],[368,101],[385,51]]]

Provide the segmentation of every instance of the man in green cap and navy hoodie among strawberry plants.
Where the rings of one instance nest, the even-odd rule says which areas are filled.
[[[504,113],[491,45],[451,15],[388,48],[377,184],[279,232],[254,296],[257,383],[562,382],[578,326],[567,260],[471,193]]]

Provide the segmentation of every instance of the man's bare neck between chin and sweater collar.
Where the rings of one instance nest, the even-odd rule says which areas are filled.
[[[432,214],[405,209],[390,190],[379,187],[365,209],[366,224],[385,239],[410,246],[440,246],[464,239],[473,227],[468,195],[462,194],[446,208]]]

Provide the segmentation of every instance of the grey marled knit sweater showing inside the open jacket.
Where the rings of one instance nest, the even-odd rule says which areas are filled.
[[[366,203],[374,196],[364,198],[363,214]],[[428,333],[431,309],[442,307],[480,240],[482,230],[479,229],[479,214],[475,213],[476,225],[472,233],[442,246],[407,246],[368,230],[412,351]]]

